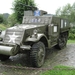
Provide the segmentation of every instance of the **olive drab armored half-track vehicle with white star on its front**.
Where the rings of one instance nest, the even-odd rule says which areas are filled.
[[[22,24],[0,32],[0,60],[29,52],[32,66],[41,67],[46,48],[66,46],[69,29],[66,19],[43,10],[24,11]]]

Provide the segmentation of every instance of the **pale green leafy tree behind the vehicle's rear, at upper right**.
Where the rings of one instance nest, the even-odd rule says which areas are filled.
[[[73,5],[67,4],[62,8],[58,8],[56,15],[68,19],[71,23],[75,22],[75,3]]]

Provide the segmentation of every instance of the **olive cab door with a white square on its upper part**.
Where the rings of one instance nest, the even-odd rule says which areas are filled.
[[[57,44],[57,40],[59,37],[58,27],[59,26],[57,24],[51,24],[48,27],[49,28],[48,34],[49,34],[49,40],[50,40],[51,46],[54,46]]]

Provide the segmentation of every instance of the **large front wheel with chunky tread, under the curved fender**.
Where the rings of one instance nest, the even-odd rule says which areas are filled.
[[[30,58],[33,67],[41,67],[43,65],[45,59],[45,46],[42,42],[33,44]]]

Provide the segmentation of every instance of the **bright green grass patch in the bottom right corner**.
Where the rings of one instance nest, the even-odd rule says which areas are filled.
[[[56,66],[54,69],[45,71],[40,75],[75,75],[75,69],[67,66]]]

